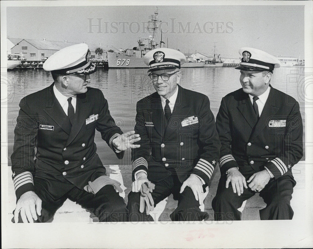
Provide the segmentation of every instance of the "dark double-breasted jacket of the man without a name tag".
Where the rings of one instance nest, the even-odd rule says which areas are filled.
[[[292,175],[291,167],[303,155],[299,103],[272,87],[259,120],[249,95],[242,89],[227,94],[216,127],[222,144],[221,174],[232,167],[240,170],[250,165],[256,172],[265,166],[275,178]]]

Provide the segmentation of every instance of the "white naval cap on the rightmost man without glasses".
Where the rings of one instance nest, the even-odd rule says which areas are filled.
[[[235,69],[248,71],[273,71],[274,68],[279,68],[279,60],[269,53],[256,48],[240,48],[239,54],[242,55],[241,62]]]

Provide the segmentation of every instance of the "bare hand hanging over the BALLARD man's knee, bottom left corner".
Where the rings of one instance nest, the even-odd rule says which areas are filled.
[[[21,217],[24,223],[33,223],[33,219],[37,221],[37,214],[41,215],[41,199],[33,191],[28,191],[21,195],[16,204],[14,211],[14,222],[18,223],[18,213],[21,212]],[[36,214],[37,212],[37,214]]]

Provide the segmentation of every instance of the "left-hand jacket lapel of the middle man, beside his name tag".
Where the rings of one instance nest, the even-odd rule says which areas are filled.
[[[156,132],[163,137],[166,128],[166,118],[164,115],[160,95],[156,92],[151,99],[151,121]]]

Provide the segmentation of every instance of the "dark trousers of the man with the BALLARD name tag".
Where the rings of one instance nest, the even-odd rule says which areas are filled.
[[[42,201],[41,216],[37,214],[37,221],[34,222],[51,222],[55,212],[66,199],[75,201],[82,208],[97,216],[101,222],[128,221],[126,204],[112,185],[105,185],[95,195],[74,187],[58,200],[54,200],[40,184],[35,182],[34,186],[35,193]],[[14,218],[12,222],[14,222]],[[20,214],[18,222],[23,222]]]

